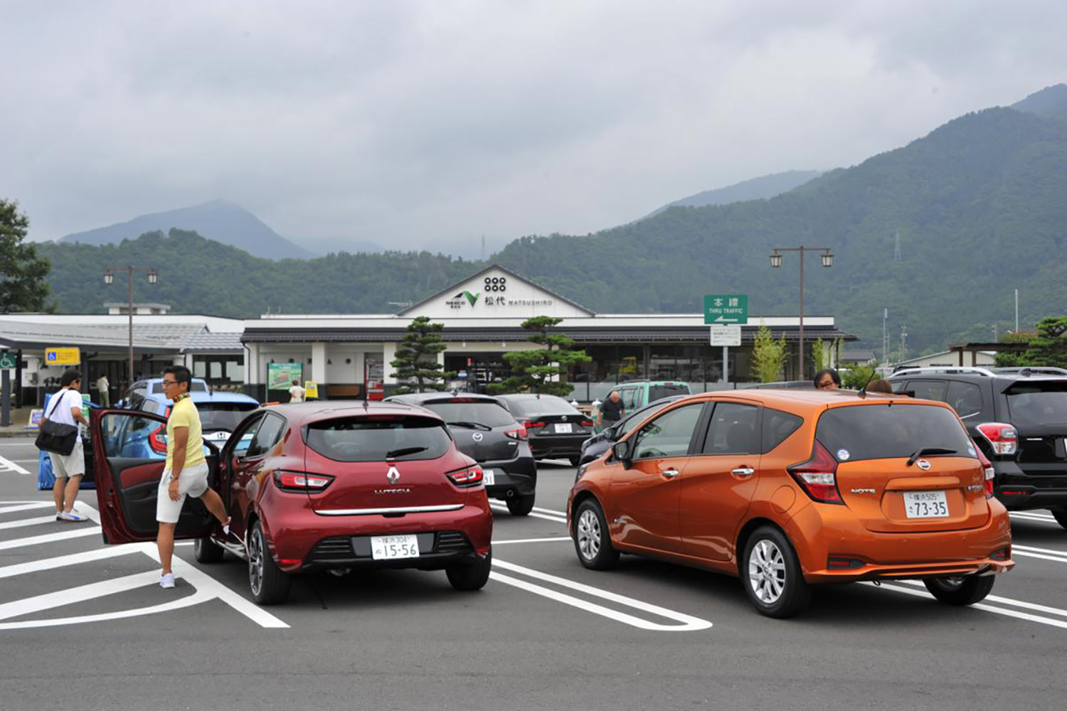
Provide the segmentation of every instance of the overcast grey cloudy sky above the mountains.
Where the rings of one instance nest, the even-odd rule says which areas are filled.
[[[218,197],[313,248],[586,233],[1067,81],[1062,0],[0,0],[0,197],[36,240]]]

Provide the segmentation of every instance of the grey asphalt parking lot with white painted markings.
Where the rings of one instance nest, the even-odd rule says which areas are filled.
[[[163,591],[154,546],[55,522],[32,441],[0,440],[0,709],[1044,709],[1067,691],[1067,531],[1048,512],[1013,517],[1018,565],[981,605],[853,584],[775,620],[734,578],[583,568],[573,480],[542,463],[534,513],[497,512],[478,593],[323,573],[259,608],[228,554],[179,545]],[[95,492],[79,506],[94,516]]]

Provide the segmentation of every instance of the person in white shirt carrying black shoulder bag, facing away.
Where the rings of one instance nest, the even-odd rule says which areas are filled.
[[[37,447],[48,451],[52,459],[52,471],[55,474],[55,484],[52,486],[55,520],[87,521],[89,517],[74,513],[74,500],[78,498],[78,487],[85,474],[85,451],[78,424],[89,424],[81,411],[81,373],[76,370],[66,371],[60,385],[63,389],[52,395],[51,406],[41,423]],[[70,438],[69,427],[74,427],[74,447],[64,454],[63,450]]]

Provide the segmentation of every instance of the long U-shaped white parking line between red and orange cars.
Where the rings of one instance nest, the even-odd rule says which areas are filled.
[[[525,568],[521,565],[515,565],[514,563],[508,563],[499,559],[493,559],[494,568],[504,568],[505,570],[510,570],[529,578],[535,578],[538,580],[543,580],[545,582],[559,585],[561,587],[569,587],[575,589],[586,595],[591,595],[593,597],[599,597],[605,600],[610,600],[617,604],[626,605],[635,610],[640,610],[641,612],[648,612],[658,617],[666,617],[667,619],[672,619],[676,625],[664,625],[662,623],[654,623],[648,619],[642,619],[636,617],[625,612],[620,612],[618,610],[611,610],[603,605],[596,604],[595,602],[590,602],[588,600],[583,600],[576,598],[572,595],[566,593],[558,593],[553,589],[548,589],[542,585],[536,583],[527,582],[525,580],[519,580],[517,578],[512,578],[511,576],[506,576],[496,571],[490,573],[490,579],[495,580],[507,585],[513,585],[528,593],[534,593],[536,595],[541,595],[551,600],[556,600],[557,602],[562,602],[563,604],[569,604],[579,610],[585,610],[586,612],[591,612],[616,621],[624,623],[632,627],[637,627],[642,630],[652,630],[656,632],[688,632],[694,630],[706,630],[712,626],[712,623],[706,619],[701,619],[699,617],[692,617],[681,612],[675,612],[673,610],[667,610],[666,608],[660,608],[659,605],[651,604],[649,602],[642,602],[641,600],[636,600],[632,597],[625,597],[623,595],[617,595],[616,593],[609,593],[599,587],[592,587],[591,585],[584,585],[582,583],[574,582],[573,580],[567,580],[566,578],[558,578],[556,576],[551,576],[546,572],[541,572],[540,570],[534,570],[531,568]]]

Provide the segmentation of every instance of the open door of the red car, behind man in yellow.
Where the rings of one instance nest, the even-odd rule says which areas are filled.
[[[139,410],[106,409],[92,414],[90,429],[105,543],[155,540],[156,497],[166,464],[166,420]],[[205,455],[208,485],[218,489],[219,450],[205,443]],[[200,499],[187,498],[174,537],[200,538],[214,524]]]

